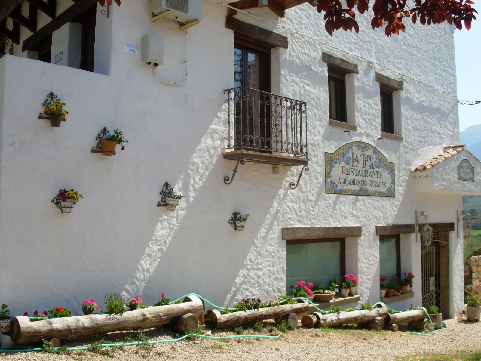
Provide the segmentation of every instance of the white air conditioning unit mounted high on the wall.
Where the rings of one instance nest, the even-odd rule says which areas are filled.
[[[164,17],[177,20],[181,29],[202,20],[202,0],[152,0],[151,21]]]

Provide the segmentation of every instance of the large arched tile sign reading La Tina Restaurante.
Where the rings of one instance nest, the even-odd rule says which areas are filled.
[[[350,142],[325,153],[326,193],[395,197],[394,163],[371,144]]]

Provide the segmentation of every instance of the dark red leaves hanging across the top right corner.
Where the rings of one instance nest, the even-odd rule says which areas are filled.
[[[471,0],[415,0],[414,7],[406,8],[407,0],[375,0],[372,5],[374,17],[371,20],[373,29],[381,27],[386,23],[384,33],[389,38],[392,34],[399,35],[399,31],[405,31],[403,24],[404,17],[411,17],[413,24],[419,18],[422,25],[441,24],[446,21],[448,24],[462,28],[462,22],[466,29],[471,28],[471,21],[476,20],[475,13],[471,7],[474,2]],[[357,12],[365,13],[369,9],[369,0],[346,0],[347,8],[342,8],[340,0],[318,0],[317,12],[324,12],[326,20],[326,31],[330,36],[335,30],[350,30],[357,33],[359,26],[355,21],[354,8]]]

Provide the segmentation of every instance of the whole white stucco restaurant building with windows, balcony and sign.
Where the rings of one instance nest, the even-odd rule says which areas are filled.
[[[413,292],[390,307],[462,309],[458,212],[481,193],[481,167],[458,145],[454,27],[408,24],[387,39],[359,16],[359,34],[331,38],[307,2],[234,14],[190,0],[202,20],[183,30],[152,22],[150,0],[108,16],[94,0],[9,2],[0,302],[13,314],[79,312],[114,291],[229,306],[352,273],[359,296],[345,309],[379,301],[380,277],[405,272]],[[142,62],[147,34],[163,38],[156,73]],[[50,92],[69,111],[60,128],[38,119]],[[91,152],[104,127],[122,130],[124,151]],[[165,182],[185,194],[175,211],[156,206]],[[63,188],[84,196],[71,214],[51,202]],[[233,212],[250,214],[243,232]],[[429,214],[429,247],[416,212]]]

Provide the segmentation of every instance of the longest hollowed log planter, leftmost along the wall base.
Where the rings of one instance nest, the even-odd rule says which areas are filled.
[[[185,297],[183,303],[127,311],[123,314],[83,315],[30,322],[28,317],[13,317],[10,324],[12,340],[17,345],[56,337],[73,340],[77,337],[113,331],[154,327],[179,319],[187,313],[200,317],[203,303],[197,296]]]

